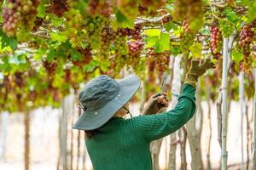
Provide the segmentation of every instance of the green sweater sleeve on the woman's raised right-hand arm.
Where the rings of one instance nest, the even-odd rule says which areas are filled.
[[[131,119],[131,122],[139,135],[152,141],[175,132],[194,114],[195,88],[185,84],[174,109],[156,115],[136,116]]]

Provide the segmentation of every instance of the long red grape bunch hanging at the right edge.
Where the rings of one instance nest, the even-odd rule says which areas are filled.
[[[254,20],[252,24],[247,24],[246,26],[243,26],[240,32],[240,38],[238,42],[239,49],[243,54],[243,59],[241,61],[240,68],[247,75],[249,75],[252,71],[251,68],[252,68],[253,58],[250,53],[250,45],[253,42],[253,38],[255,37],[255,32],[256,32],[255,28],[256,28],[256,20]]]

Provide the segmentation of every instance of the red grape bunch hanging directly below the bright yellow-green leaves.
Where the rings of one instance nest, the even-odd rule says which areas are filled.
[[[170,62],[170,51],[165,51],[163,53],[155,53],[154,48],[150,48],[148,54],[149,67],[155,68],[159,72],[164,72],[168,69]]]

